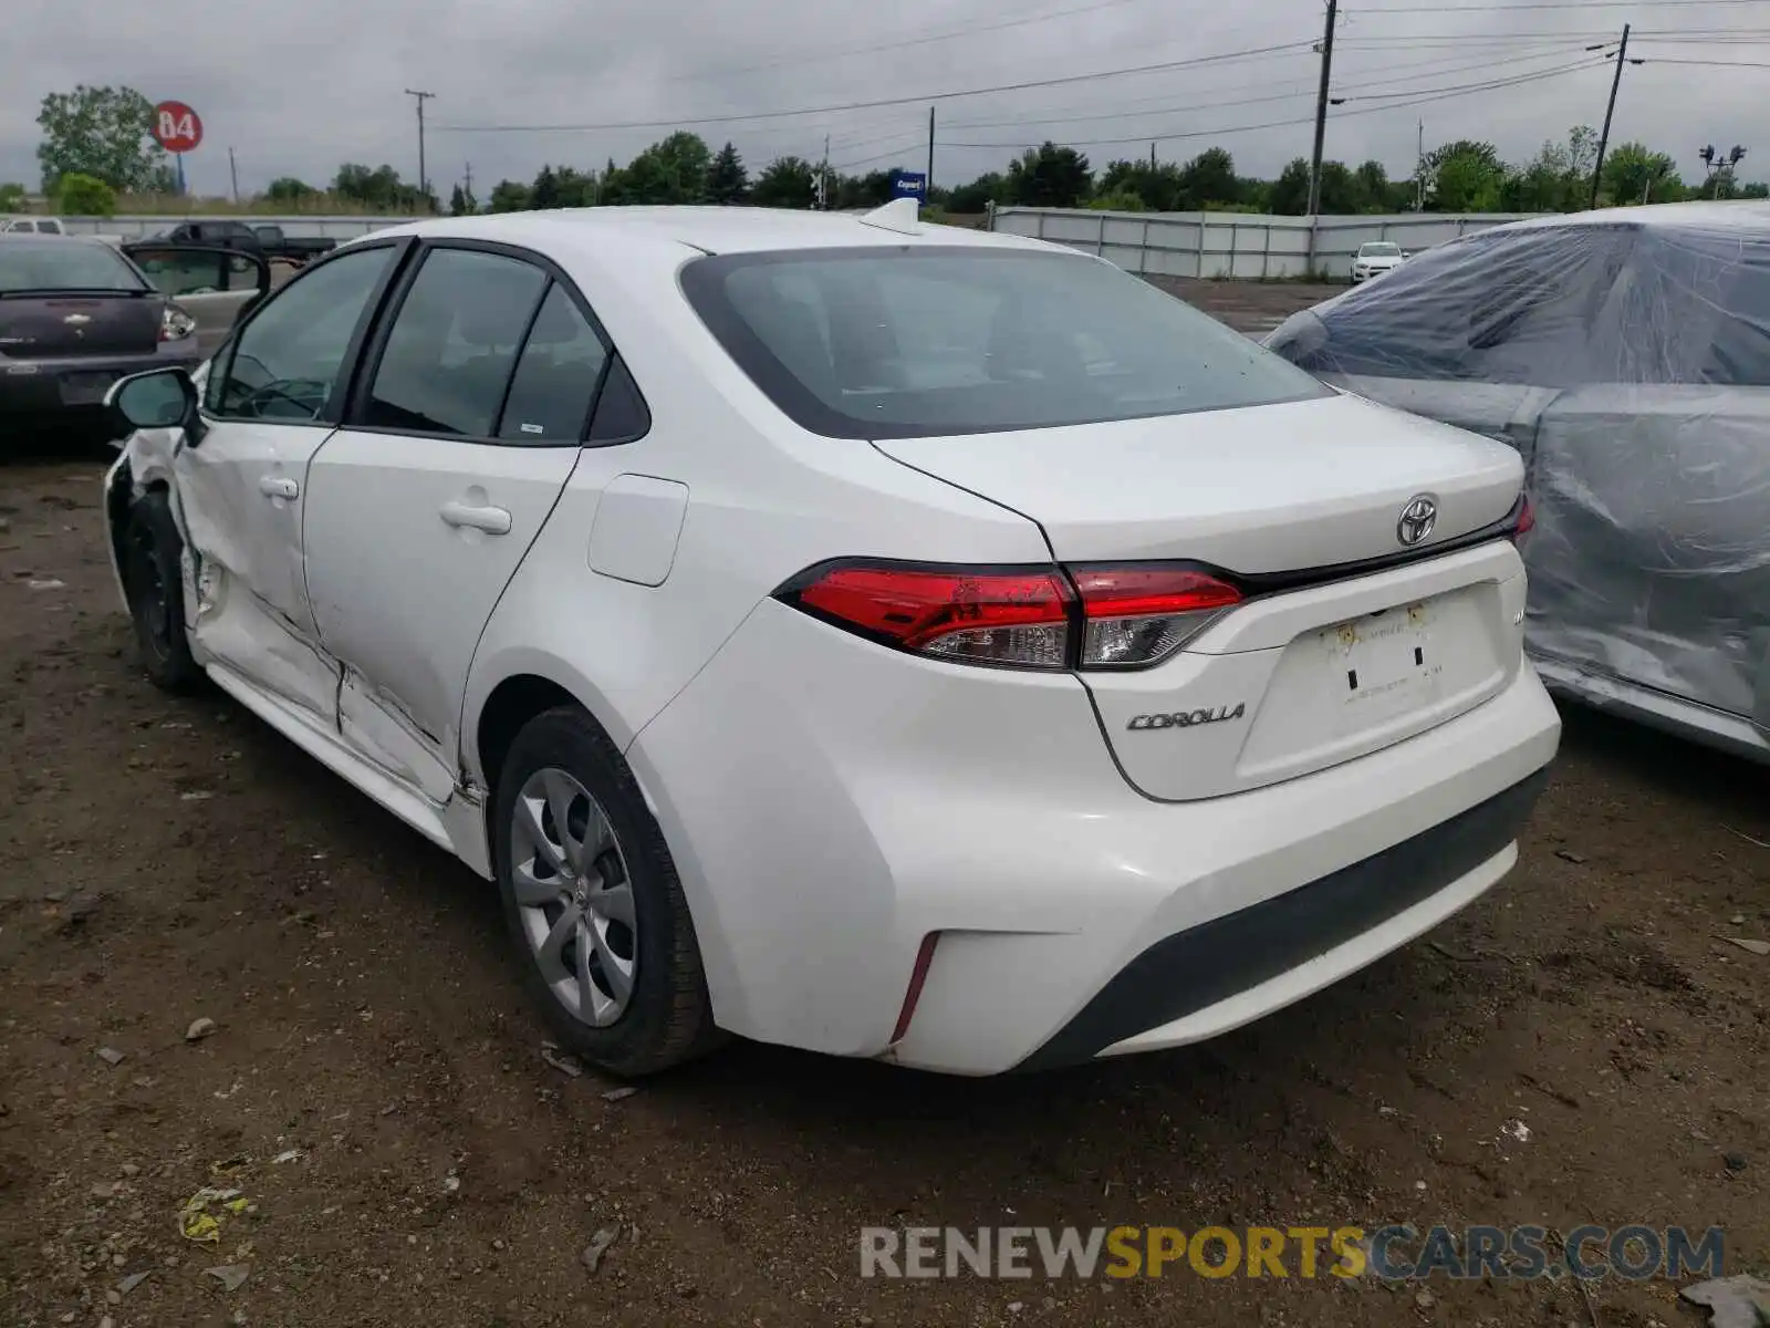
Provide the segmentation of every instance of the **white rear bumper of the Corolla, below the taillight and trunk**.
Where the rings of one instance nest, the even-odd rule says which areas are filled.
[[[1405,944],[1510,869],[1559,731],[1526,666],[1382,751],[1163,804],[1119,776],[1076,678],[917,660],[765,602],[628,758],[720,1027],[989,1075],[1214,1036]],[[1280,933],[1159,1000],[1170,951],[1142,958]]]

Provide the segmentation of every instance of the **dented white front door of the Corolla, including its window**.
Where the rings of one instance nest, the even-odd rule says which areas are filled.
[[[338,669],[319,648],[303,575],[308,462],[333,432],[327,402],[393,257],[391,246],[340,255],[264,305],[209,367],[205,432],[173,460],[200,561],[186,597],[193,650],[324,728],[336,722]]]

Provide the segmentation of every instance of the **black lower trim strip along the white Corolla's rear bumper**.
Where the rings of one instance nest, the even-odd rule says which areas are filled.
[[[1549,784],[1549,767],[1411,839],[1138,954],[1020,1071],[1090,1061],[1381,926],[1503,852]]]

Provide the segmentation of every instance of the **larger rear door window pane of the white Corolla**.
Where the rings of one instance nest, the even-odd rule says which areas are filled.
[[[545,285],[545,273],[519,259],[432,250],[393,319],[361,423],[496,437],[504,388]]]

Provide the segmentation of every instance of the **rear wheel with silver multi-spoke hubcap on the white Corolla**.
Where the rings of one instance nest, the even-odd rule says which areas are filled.
[[[522,981],[566,1050],[637,1077],[717,1043],[676,864],[589,715],[561,706],[522,728],[492,827]]]

